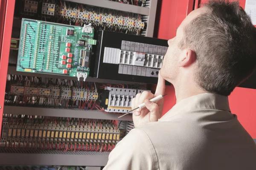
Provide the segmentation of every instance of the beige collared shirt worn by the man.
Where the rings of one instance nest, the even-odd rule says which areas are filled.
[[[256,144],[226,96],[199,94],[131,130],[104,170],[256,170]]]

